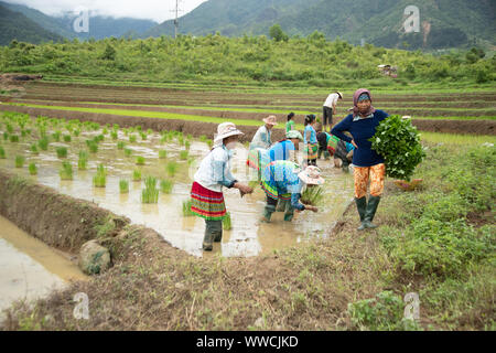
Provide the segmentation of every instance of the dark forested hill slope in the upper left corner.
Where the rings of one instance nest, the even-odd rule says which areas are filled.
[[[0,45],[8,45],[14,39],[30,43],[63,40],[62,36],[43,29],[22,13],[0,4]]]

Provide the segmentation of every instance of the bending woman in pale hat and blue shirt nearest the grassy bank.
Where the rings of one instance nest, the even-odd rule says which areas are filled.
[[[301,171],[301,168],[291,161],[269,163],[263,170],[260,183],[267,195],[267,204],[261,222],[270,222],[278,202],[285,204],[284,221],[288,222],[293,220],[294,210],[299,212],[304,210],[317,212],[317,207],[304,205],[300,202],[300,199],[304,186],[311,188],[323,183],[324,179],[321,178],[320,169],[316,167],[309,165],[304,171]]]

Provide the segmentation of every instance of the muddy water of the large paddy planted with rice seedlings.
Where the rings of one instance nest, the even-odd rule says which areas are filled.
[[[265,206],[265,193],[258,186],[252,195],[240,199],[237,190],[225,189],[224,195],[227,210],[231,214],[231,231],[225,231],[223,242],[214,245],[212,253],[203,253],[202,240],[205,223],[198,217],[183,217],[182,203],[188,200],[192,178],[202,158],[208,153],[208,147],[203,142],[193,142],[190,156],[194,161],[180,161],[179,153],[183,149],[176,143],[160,143],[159,135],[149,137],[145,141],[128,143],[128,138],[119,132],[119,140],[127,142],[127,147],[133,150],[132,157],[125,157],[122,150],[116,148],[116,141],[106,137],[100,142],[98,153],[89,153],[88,170],[77,170],[77,153],[86,149],[85,140],[96,132],[83,132],[79,138],[74,138],[69,143],[51,143],[48,151],[40,151],[33,156],[29,151],[31,140],[25,139],[19,143],[2,142],[8,154],[7,160],[0,160],[0,168],[15,171],[28,178],[32,178],[41,184],[54,188],[60,192],[93,201],[116,214],[128,216],[134,224],[143,224],[155,229],[173,246],[184,249],[195,256],[213,256],[220,253],[226,257],[257,256],[267,254],[273,249],[298,245],[310,239],[325,237],[328,229],[344,212],[353,196],[353,176],[343,174],[331,165],[330,161],[319,161],[323,170],[325,183],[325,203],[321,205],[319,213],[295,213],[291,223],[283,222],[282,213],[274,213],[272,223],[260,224],[259,220]],[[69,149],[67,160],[73,163],[74,180],[61,181],[58,169],[61,160],[56,157],[55,147],[66,146]],[[168,150],[168,159],[159,159],[159,150]],[[26,157],[23,169],[14,168],[15,154]],[[143,156],[145,165],[136,165],[136,157]],[[246,171],[247,151],[239,146],[236,149],[233,173],[241,181],[248,180]],[[134,169],[142,171],[142,176],[154,175],[159,179],[169,179],[165,172],[168,161],[176,161],[179,170],[173,178],[174,188],[172,194],[160,194],[158,204],[142,204],[142,182],[132,182],[131,174]],[[28,164],[35,162],[39,174],[30,176]],[[107,186],[94,188],[93,176],[98,163],[104,163],[108,170]],[[129,193],[120,194],[119,180],[129,181]]]

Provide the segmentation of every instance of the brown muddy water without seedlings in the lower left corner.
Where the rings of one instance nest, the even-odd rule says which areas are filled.
[[[0,216],[0,311],[15,300],[44,297],[78,279],[87,276],[68,255],[54,250]]]

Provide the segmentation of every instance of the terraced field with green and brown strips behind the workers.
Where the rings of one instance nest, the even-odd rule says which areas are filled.
[[[185,88],[99,86],[84,84],[56,84],[36,82],[26,85],[25,93],[3,98],[2,109],[15,109],[33,115],[57,116],[61,111],[68,118],[98,115],[134,118],[160,118],[176,121],[219,124],[236,119],[240,126],[257,127],[268,115],[285,121],[294,111],[296,128],[302,129],[304,116],[322,116],[322,103],[326,94],[288,89],[288,93],[242,92],[230,88],[225,92],[194,90]],[[353,106],[353,92],[344,90],[335,121],[348,114]],[[496,90],[453,93],[397,94],[373,92],[374,105],[390,115],[408,115],[421,130],[451,133],[495,135]],[[69,114],[71,113],[71,114]],[[282,129],[283,124],[278,128]],[[212,128],[211,128],[212,129]],[[211,130],[208,129],[208,130]],[[193,129],[195,130],[195,129]],[[251,130],[248,129],[249,133]],[[254,130],[255,132],[255,130]],[[195,131],[188,131],[195,135]],[[200,131],[198,131],[200,133]],[[277,138],[282,131],[277,130]],[[247,138],[249,138],[248,136]]]

